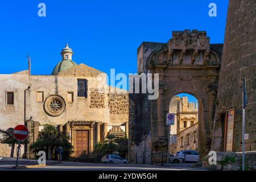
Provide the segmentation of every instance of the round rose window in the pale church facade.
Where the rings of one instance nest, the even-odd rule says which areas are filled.
[[[59,116],[65,110],[65,101],[60,96],[49,96],[44,102],[44,110],[48,115]]]

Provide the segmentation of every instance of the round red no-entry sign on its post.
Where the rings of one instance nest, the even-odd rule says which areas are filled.
[[[24,125],[18,125],[13,130],[13,136],[16,140],[19,141],[19,145],[17,148],[17,155],[16,155],[16,165],[15,168],[18,168],[18,159],[19,159],[19,151],[20,151],[20,141],[23,141],[28,136],[28,129]]]

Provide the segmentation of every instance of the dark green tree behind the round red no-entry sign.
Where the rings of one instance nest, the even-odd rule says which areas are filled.
[[[8,130],[2,130],[0,129],[0,143],[4,143],[4,144],[11,144],[11,154],[10,157],[13,158],[14,156],[14,148],[15,148],[15,144],[18,144],[19,141],[16,140],[13,136],[13,128],[10,128]],[[20,144],[27,144],[28,140],[24,140],[22,142],[20,142]]]

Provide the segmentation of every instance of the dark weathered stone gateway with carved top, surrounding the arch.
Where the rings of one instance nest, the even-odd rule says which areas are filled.
[[[184,92],[199,101],[198,151],[200,157],[208,154],[222,44],[209,44],[206,35],[205,31],[197,30],[173,31],[167,43],[143,42],[138,48],[138,72],[158,73],[159,97],[148,100],[147,94],[129,96],[131,163],[160,163],[160,152],[167,154],[166,115],[170,100]],[[139,161],[140,158],[144,160]]]

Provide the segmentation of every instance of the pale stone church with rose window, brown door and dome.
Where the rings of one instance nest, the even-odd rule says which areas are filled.
[[[56,126],[71,137],[72,156],[92,152],[108,134],[127,136],[127,91],[106,85],[105,73],[77,65],[72,55],[67,45],[52,75],[31,75],[29,70],[0,75],[1,129],[25,123],[33,143],[45,125]],[[10,149],[0,144],[0,156],[9,156]]]

